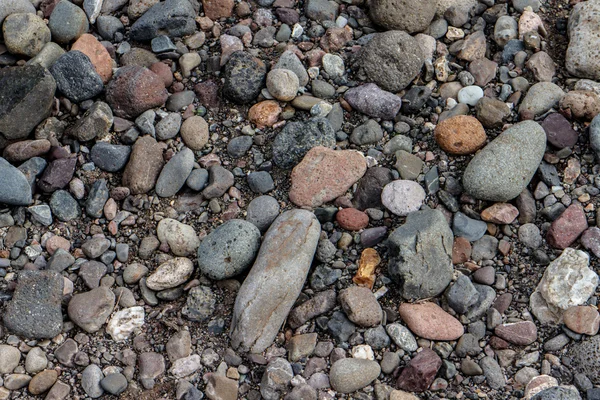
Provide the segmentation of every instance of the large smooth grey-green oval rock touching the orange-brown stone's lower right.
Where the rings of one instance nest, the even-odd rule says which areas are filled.
[[[513,125],[469,162],[464,188],[478,199],[511,200],[529,184],[545,149],[546,134],[539,124],[524,121]]]

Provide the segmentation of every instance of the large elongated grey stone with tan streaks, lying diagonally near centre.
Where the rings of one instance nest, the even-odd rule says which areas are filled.
[[[234,349],[261,353],[273,343],[306,281],[320,232],[306,210],[286,211],[273,222],[235,299]]]

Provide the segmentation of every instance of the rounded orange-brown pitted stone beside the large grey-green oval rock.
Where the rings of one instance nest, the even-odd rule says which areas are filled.
[[[435,128],[435,141],[450,154],[472,154],[485,144],[485,130],[475,117],[457,115]]]

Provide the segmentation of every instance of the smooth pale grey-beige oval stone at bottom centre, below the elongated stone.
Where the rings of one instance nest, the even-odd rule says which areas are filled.
[[[369,385],[379,376],[379,363],[360,358],[343,358],[331,366],[329,381],[339,393],[352,393]]]

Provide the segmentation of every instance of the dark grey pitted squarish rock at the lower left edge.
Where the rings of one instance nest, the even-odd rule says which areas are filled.
[[[63,278],[54,271],[19,272],[17,287],[4,312],[4,326],[31,339],[58,335],[63,328],[63,286]]]

